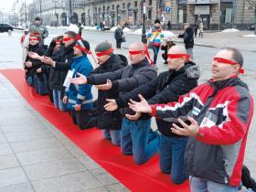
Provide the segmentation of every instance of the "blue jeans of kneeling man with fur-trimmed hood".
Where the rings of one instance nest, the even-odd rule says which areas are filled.
[[[176,184],[180,184],[188,178],[184,170],[186,145],[187,137],[160,135],[160,169],[164,173],[171,173],[171,180]]]

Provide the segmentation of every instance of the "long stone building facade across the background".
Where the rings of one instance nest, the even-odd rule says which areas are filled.
[[[147,25],[153,25],[155,18],[164,26],[170,21],[173,29],[185,22],[203,22],[205,29],[243,29],[255,22],[255,7],[247,0],[34,0],[29,13],[30,17],[41,16],[50,26],[102,22],[108,27],[122,23],[140,27],[144,2]]]

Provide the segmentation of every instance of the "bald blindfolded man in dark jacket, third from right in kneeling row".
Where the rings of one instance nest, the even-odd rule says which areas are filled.
[[[71,82],[75,84],[105,84],[107,87],[107,89],[104,89],[105,91],[118,91],[119,96],[122,96],[125,92],[132,91],[138,86],[154,80],[156,70],[145,57],[146,50],[144,44],[141,42],[133,43],[128,51],[132,65],[113,72],[93,74],[88,78],[81,76],[71,80]],[[147,116],[142,116],[136,121],[131,121],[126,115],[133,115],[133,112],[128,108],[121,109],[121,112],[123,115],[121,129],[122,152],[124,155],[133,154],[134,161],[137,164],[143,164],[155,155],[158,150],[158,138],[156,135],[150,141],[148,141],[147,137],[150,131],[151,120]]]

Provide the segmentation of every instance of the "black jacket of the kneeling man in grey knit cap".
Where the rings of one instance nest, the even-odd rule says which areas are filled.
[[[122,60],[118,55],[112,55],[105,63],[101,64],[98,68],[94,69],[89,77],[94,74],[102,74],[106,72],[113,72],[117,69],[122,69],[127,66],[127,59]],[[98,91],[98,101],[96,102],[97,110],[97,127],[100,129],[121,129],[122,115],[119,111],[107,112],[104,109],[106,99],[118,98],[118,91]]]

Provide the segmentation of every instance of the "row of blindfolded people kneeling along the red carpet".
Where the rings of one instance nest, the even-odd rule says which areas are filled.
[[[156,19],[148,35],[155,53],[161,47],[159,26]],[[69,112],[80,129],[101,129],[102,137],[120,145],[123,155],[133,155],[136,164],[158,153],[161,172],[175,184],[189,178],[192,192],[238,191],[244,184],[242,165],[253,114],[251,94],[239,78],[243,58],[236,48],[222,48],[212,61],[212,79],[198,86],[199,69],[192,42],[187,42],[191,27],[184,27],[180,37],[186,46],[166,49],[168,69],[158,75],[142,42],[128,49],[131,65],[110,43],[101,42],[94,50],[98,67],[93,69],[90,43],[79,34],[67,31],[46,46],[48,33],[31,27],[23,40],[25,79],[38,94],[48,94],[56,108]],[[97,100],[92,85],[98,89]],[[151,129],[153,117],[157,131]]]

